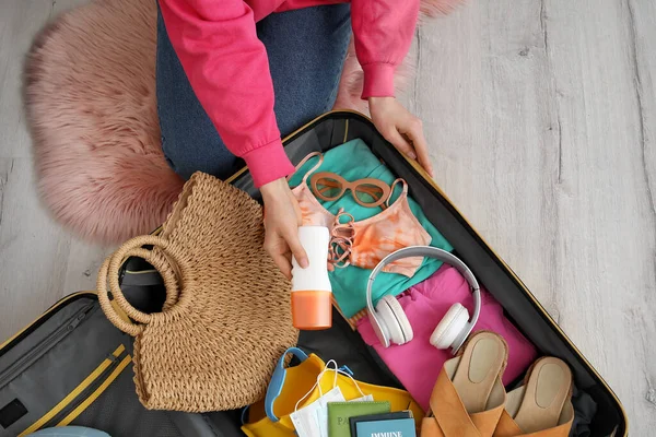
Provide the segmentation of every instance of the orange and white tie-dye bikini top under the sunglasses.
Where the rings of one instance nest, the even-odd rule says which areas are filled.
[[[351,214],[340,209],[335,215],[324,208],[312,193],[307,178],[324,162],[324,156],[314,152],[305,156],[296,170],[307,160],[319,156],[319,162],[303,177],[303,181],[292,189],[303,215],[303,225],[326,226],[330,231],[330,263],[335,267],[349,264],[362,269],[374,269],[387,255],[408,246],[426,246],[431,235],[417,220],[408,203],[408,186],[403,179],[397,179],[390,187],[389,198],[396,184],[403,185],[403,191],[394,204],[370,218],[355,221]],[[354,193],[355,196],[355,193]],[[345,222],[344,222],[345,218]],[[383,271],[412,276],[423,258],[407,258],[386,265]]]

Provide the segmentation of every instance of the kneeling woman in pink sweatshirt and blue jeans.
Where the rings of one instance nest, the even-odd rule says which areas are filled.
[[[265,247],[288,277],[291,255],[302,267],[307,257],[281,132],[332,107],[351,26],[376,128],[432,173],[421,121],[394,97],[418,12],[419,0],[160,0],[164,154],[185,178],[225,178],[243,158],[265,202]]]

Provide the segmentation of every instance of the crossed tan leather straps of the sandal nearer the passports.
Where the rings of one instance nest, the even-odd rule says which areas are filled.
[[[503,405],[500,405],[470,415],[444,368],[433,388],[430,405],[432,416],[422,421],[422,437],[492,436],[504,411]]]

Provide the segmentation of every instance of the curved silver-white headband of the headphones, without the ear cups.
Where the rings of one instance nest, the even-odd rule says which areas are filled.
[[[466,329],[462,330],[462,333],[458,335],[456,341],[454,342],[453,352],[455,353],[467,336],[473,330],[473,326],[478,321],[479,315],[481,312],[481,292],[479,283],[473,275],[472,271],[467,267],[462,260],[460,260],[455,255],[440,249],[437,247],[432,246],[409,246],[397,251],[389,253],[387,257],[383,258],[380,262],[372,270],[368,282],[366,284],[366,307],[370,311],[370,315],[375,317],[376,312],[374,310],[374,303],[372,300],[372,290],[374,286],[374,281],[378,273],[385,268],[385,265],[390,264],[394,261],[398,261],[403,258],[412,258],[412,257],[427,257],[434,258],[442,262],[445,262],[452,267],[454,267],[460,274],[465,277],[465,280],[469,283],[469,287],[471,288],[471,293],[473,294],[473,315],[471,319],[467,322]]]

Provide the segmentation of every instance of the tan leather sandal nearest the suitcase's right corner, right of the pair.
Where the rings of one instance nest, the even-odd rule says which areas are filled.
[[[570,367],[559,358],[540,358],[525,380],[508,393],[494,437],[567,437],[574,420]]]

